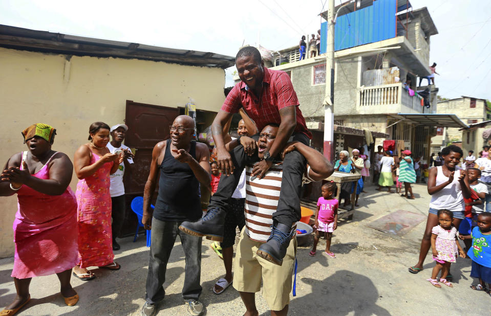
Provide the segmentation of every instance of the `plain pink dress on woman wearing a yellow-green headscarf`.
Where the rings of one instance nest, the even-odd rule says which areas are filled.
[[[55,154],[32,176],[49,179],[48,166]],[[17,279],[48,276],[75,266],[77,201],[70,187],[61,195],[48,195],[23,185],[17,191],[17,200],[11,276]]]

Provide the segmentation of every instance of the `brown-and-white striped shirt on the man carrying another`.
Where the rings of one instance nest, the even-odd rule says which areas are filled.
[[[308,168],[307,168],[308,170]],[[246,167],[245,232],[251,240],[266,242],[271,234],[273,213],[278,207],[283,165],[273,164],[262,179],[251,180],[252,167]],[[312,179],[304,175],[304,183]]]

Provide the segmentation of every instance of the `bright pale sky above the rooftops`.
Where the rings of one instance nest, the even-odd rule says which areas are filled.
[[[320,28],[326,1],[0,0],[0,24],[235,56],[243,44],[273,51],[297,45]],[[481,0],[410,2],[414,9],[428,7],[439,32],[430,39],[439,95],[491,100],[491,6]],[[233,70],[226,71],[226,86],[233,84]]]

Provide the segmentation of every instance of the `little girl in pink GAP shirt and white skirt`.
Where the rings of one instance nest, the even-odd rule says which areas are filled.
[[[336,184],[333,182],[326,183],[321,187],[322,196],[317,200],[317,210],[315,211],[315,231],[314,244],[309,256],[315,256],[317,251],[317,243],[321,232],[326,236],[326,254],[331,258],[336,258],[331,252],[331,237],[332,232],[337,228],[337,207],[338,200],[333,197]]]

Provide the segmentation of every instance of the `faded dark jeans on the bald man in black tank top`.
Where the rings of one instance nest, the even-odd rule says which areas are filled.
[[[179,230],[179,221],[162,221],[152,218],[152,244],[150,246],[150,262],[146,278],[145,300],[150,304],[159,303],[164,299],[165,272],[170,252],[174,247],[177,235],[181,239],[186,264],[184,267],[184,284],[182,298],[195,301],[201,295],[201,237],[188,235]]]

